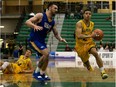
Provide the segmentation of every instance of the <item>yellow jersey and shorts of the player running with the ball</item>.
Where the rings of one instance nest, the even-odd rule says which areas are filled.
[[[94,23],[90,21],[89,26],[86,26],[83,20],[80,20],[79,22],[82,25],[82,34],[91,35],[93,27],[94,27]],[[75,50],[83,62],[86,62],[89,59],[89,56],[90,56],[89,50],[92,47],[95,47],[95,43],[92,38],[80,39],[76,37]]]

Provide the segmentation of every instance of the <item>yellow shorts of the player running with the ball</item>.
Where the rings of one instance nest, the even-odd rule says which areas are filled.
[[[78,44],[78,46],[75,46],[75,50],[83,62],[86,62],[89,59],[89,50],[92,47],[95,47],[95,43],[93,42],[89,44]]]

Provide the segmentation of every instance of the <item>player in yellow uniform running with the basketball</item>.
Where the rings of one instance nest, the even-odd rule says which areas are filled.
[[[83,12],[83,20],[80,20],[76,23],[75,50],[78,53],[78,56],[81,58],[82,62],[84,63],[84,66],[86,66],[86,68],[89,71],[93,70],[89,62],[90,54],[92,54],[96,58],[97,65],[99,66],[99,69],[101,71],[102,79],[106,79],[108,78],[108,75],[104,70],[102,59],[99,57],[95,43],[92,39],[92,37],[98,35],[92,33],[94,23],[90,21],[91,15],[92,15],[91,10],[86,9]]]

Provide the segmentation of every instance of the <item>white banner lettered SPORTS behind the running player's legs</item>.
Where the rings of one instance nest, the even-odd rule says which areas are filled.
[[[98,54],[105,68],[116,68],[116,52],[99,52]],[[90,55],[89,61],[93,67],[98,67],[93,55]],[[76,67],[83,67],[83,63],[78,55],[76,56]]]

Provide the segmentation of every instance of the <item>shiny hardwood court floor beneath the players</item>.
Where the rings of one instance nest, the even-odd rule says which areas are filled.
[[[102,80],[100,72],[86,68],[48,68],[51,81],[40,83],[32,74],[3,74],[0,87],[115,87],[115,70],[107,69],[109,78]],[[3,86],[4,85],[4,86]]]

